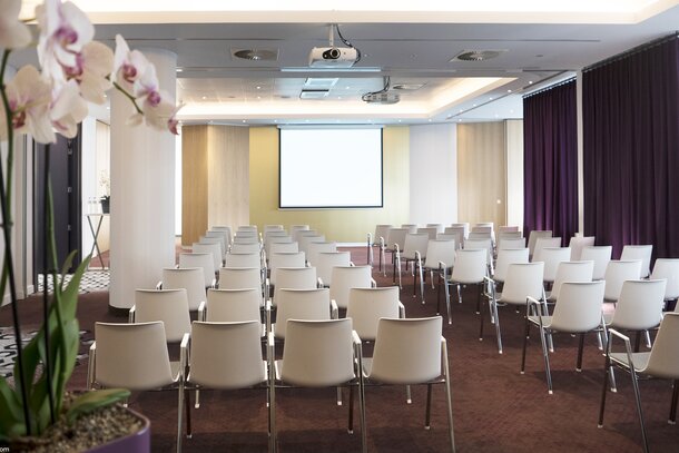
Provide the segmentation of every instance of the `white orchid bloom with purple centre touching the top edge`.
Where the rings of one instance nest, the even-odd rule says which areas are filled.
[[[36,8],[40,38],[38,58],[42,73],[66,81],[65,68],[78,67],[78,55],[95,37],[95,27],[70,1],[45,0]]]

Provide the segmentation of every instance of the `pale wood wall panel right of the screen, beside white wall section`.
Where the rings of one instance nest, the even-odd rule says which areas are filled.
[[[457,219],[506,225],[504,122],[457,125]]]

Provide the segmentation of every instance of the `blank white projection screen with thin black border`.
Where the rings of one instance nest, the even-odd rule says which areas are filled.
[[[281,128],[283,209],[375,208],[382,197],[382,129]]]

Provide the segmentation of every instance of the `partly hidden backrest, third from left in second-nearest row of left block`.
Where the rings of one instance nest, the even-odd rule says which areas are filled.
[[[286,289],[278,292],[276,307],[276,338],[287,335],[288,319],[324,321],[331,318],[331,293],[328,288]]]

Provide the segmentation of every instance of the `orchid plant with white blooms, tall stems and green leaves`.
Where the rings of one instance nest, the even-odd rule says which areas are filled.
[[[78,286],[89,257],[78,266],[68,284],[58,278],[49,165],[46,165],[43,175],[47,191],[45,234],[51,263],[46,263],[46,268],[49,265],[55,288],[51,301],[45,289],[45,322],[40,332],[22,345],[12,249],[9,246],[14,135],[30,135],[35,141],[48,145],[56,141],[57,134],[72,138],[78,124],[88,115],[88,102],[104,104],[109,89],[116,89],[129,99],[129,125],[146,124],[177,134],[176,114],[180,108],[169,93],[160,89],[154,65],[141,52],[130,50],[122,37],[116,37],[115,52],[94,41],[94,26],[73,3],[45,0],[36,8],[35,19],[26,22],[19,19],[20,10],[21,0],[0,0],[0,140],[8,144],[4,160],[0,163],[0,209],[6,244],[0,295],[4,295],[9,287],[17,344],[13,385],[0,377],[0,442],[39,435],[60,416],[66,415],[66,420],[72,421],[83,412],[129,394],[119,388],[86,393],[63,413],[66,384],[79,346],[76,318]],[[27,26],[33,20],[39,31],[37,41]],[[9,78],[10,53],[30,46],[37,48],[40,68],[24,66]],[[49,146],[46,152],[49,163]],[[72,259],[73,254],[62,268],[68,269]],[[47,288],[47,284],[43,286]]]

